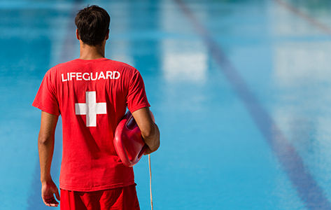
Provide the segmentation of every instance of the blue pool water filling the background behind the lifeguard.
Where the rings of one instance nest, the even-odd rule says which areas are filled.
[[[106,57],[145,81],[155,209],[331,209],[331,3],[307,2],[1,1],[0,209],[50,209],[31,103],[50,67],[78,57],[87,3],[111,15]],[[150,209],[147,157],[134,171]]]

